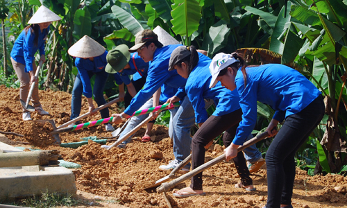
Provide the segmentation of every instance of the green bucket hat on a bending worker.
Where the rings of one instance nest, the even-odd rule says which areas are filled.
[[[108,61],[105,67],[107,73],[117,73],[121,71],[130,60],[129,47],[126,44],[115,47],[115,49],[108,51],[106,60]]]

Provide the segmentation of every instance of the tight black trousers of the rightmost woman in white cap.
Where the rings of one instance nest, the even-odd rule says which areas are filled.
[[[287,116],[266,152],[268,199],[266,208],[290,205],[295,178],[296,150],[305,142],[324,115],[323,96],[301,112]]]

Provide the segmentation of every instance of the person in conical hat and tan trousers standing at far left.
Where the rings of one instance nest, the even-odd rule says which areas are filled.
[[[44,42],[46,42],[49,33],[49,25],[52,21],[58,21],[60,19],[61,18],[54,12],[41,6],[28,21],[28,24],[30,25],[26,26],[22,33],[19,34],[10,53],[13,69],[15,69],[20,82],[20,99],[26,101],[30,85],[35,82],[31,101],[33,101],[35,111],[41,115],[48,115],[49,112],[43,110],[40,103],[38,79],[35,78],[35,72],[37,70],[35,64],[35,53],[38,50],[40,52],[39,62],[45,62],[46,56],[44,53]],[[22,111],[23,121],[31,121],[30,112],[28,112],[28,110],[23,106]]]

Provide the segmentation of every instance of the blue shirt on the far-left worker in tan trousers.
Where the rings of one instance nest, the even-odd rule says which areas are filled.
[[[44,29],[42,33],[40,28],[38,31],[37,46],[34,44],[35,33],[31,32],[31,28],[29,28],[28,31],[23,30],[19,34],[11,51],[13,60],[25,65],[25,72],[33,71],[33,62],[37,50],[40,51],[40,55],[44,55],[44,42],[47,39],[49,27]]]

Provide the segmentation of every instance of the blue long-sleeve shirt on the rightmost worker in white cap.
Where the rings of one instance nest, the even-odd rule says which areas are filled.
[[[301,112],[321,92],[305,76],[282,64],[264,64],[247,67],[246,87],[241,68],[235,84],[242,108],[242,121],[232,143],[242,145],[257,121],[257,101],[276,110],[273,119],[282,121],[291,114]]]

